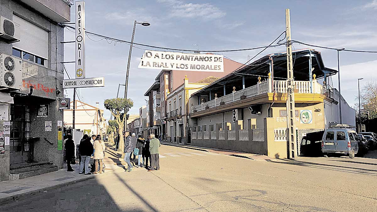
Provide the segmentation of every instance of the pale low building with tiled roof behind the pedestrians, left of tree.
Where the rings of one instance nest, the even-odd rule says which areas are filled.
[[[75,110],[75,129],[80,129],[89,135],[106,133],[104,111],[97,106],[75,100],[70,102],[70,109],[64,110],[64,125],[73,127],[73,111]]]

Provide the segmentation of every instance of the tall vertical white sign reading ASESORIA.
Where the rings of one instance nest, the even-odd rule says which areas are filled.
[[[85,78],[85,2],[78,1],[76,8],[76,78]]]

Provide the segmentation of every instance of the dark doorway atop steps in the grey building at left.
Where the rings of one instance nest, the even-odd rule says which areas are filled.
[[[10,122],[10,164],[33,161],[29,107],[11,104]]]

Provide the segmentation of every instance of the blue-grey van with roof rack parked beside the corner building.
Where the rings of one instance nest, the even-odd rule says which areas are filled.
[[[346,124],[337,124],[326,129],[322,137],[323,154],[343,154],[354,158],[359,151],[360,138],[352,128]]]

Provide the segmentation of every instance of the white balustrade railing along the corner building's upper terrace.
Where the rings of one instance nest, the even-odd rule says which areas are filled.
[[[295,90],[303,94],[324,94],[325,89],[317,80],[313,80],[313,85],[310,81],[294,81]],[[268,92],[273,92],[275,90],[277,93],[287,93],[287,81],[274,80],[273,85],[271,78],[267,81],[258,82],[256,85],[249,88],[242,89],[240,91],[233,92],[231,94],[215,98],[214,100],[201,103],[199,105],[193,106],[191,112],[203,111],[205,109],[216,108],[223,104],[228,104],[231,102],[243,100],[246,98],[255,97],[261,94],[267,94]]]

